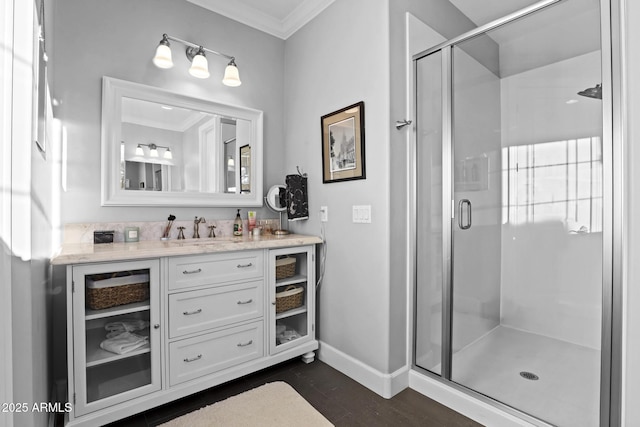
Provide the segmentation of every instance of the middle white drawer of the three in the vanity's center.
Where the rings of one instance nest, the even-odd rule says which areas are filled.
[[[169,336],[262,317],[264,282],[238,283],[169,295]]]

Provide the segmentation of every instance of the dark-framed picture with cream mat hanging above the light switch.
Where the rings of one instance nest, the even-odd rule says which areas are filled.
[[[320,119],[322,128],[322,182],[366,179],[364,101]]]

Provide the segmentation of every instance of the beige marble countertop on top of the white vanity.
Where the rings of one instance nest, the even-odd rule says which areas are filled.
[[[65,243],[51,259],[53,265],[82,264],[101,261],[160,258],[216,252],[273,249],[322,243],[317,236],[287,234],[283,236],[205,238],[185,240],[145,240],[135,243]]]

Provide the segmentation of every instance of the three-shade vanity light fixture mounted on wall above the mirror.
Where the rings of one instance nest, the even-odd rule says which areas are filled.
[[[240,86],[240,73],[238,72],[238,66],[236,65],[235,57],[224,53],[216,52],[215,50],[207,49],[204,46],[191,43],[186,40],[179,39],[177,37],[169,36],[167,34],[162,35],[162,40],[156,49],[156,55],[153,58],[153,63],[158,68],[171,68],[173,67],[173,60],[171,57],[171,44],[169,40],[182,43],[187,46],[186,54],[189,61],[191,61],[191,67],[189,68],[189,74],[200,79],[206,79],[209,77],[209,63],[205,52],[213,53],[214,55],[227,58],[229,63],[224,70],[224,77],[222,83],[226,86]]]

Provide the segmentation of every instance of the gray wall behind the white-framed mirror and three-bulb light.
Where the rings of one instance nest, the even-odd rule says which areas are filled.
[[[265,188],[284,181],[284,42],[236,21],[175,0],[65,0],[54,2],[52,96],[55,116],[68,134],[68,190],[62,223],[162,221],[178,217],[233,218],[234,209],[127,208],[100,206],[102,76],[264,111]],[[172,43],[174,67],[153,65],[162,34],[199,43],[236,57],[242,86],[221,83],[226,62],[208,55],[211,77],[187,73],[184,47]],[[264,209],[258,217],[275,217]]]

